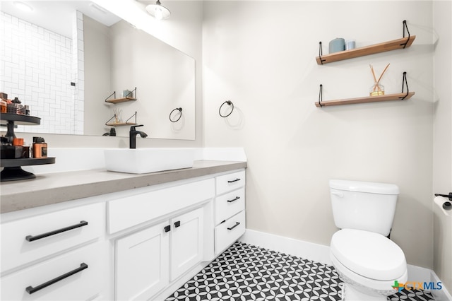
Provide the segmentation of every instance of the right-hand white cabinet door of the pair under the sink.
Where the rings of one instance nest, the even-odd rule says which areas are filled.
[[[171,220],[171,281],[203,258],[203,208]]]

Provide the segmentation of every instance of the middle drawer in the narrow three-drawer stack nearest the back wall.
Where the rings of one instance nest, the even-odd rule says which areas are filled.
[[[245,187],[215,199],[215,225],[245,209]]]

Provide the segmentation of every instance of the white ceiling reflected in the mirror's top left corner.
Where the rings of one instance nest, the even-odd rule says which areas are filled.
[[[1,11],[66,37],[72,37],[73,12],[76,10],[107,26],[121,20],[91,1],[19,1],[30,6],[32,11],[23,11],[13,2],[18,1],[0,1]]]

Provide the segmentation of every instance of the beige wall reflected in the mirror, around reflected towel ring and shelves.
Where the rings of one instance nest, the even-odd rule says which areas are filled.
[[[120,110],[122,122],[126,122],[137,112],[136,122],[143,124],[140,131],[152,138],[194,140],[195,60],[124,21],[111,26],[110,37],[109,90],[116,90],[121,98],[125,88],[136,87],[138,98],[107,107],[110,117],[114,109]],[[170,122],[169,113],[177,107],[182,107],[182,117]],[[116,131],[119,136],[129,136],[129,126],[118,126]]]

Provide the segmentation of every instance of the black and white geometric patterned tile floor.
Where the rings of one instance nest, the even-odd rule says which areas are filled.
[[[333,266],[236,242],[166,301],[338,301],[342,287]],[[388,297],[399,300],[434,301],[414,290]]]

